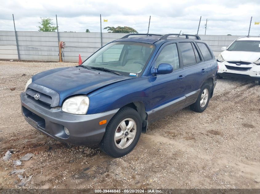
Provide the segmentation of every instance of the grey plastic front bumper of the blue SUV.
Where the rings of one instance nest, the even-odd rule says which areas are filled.
[[[20,94],[21,109],[25,120],[42,133],[61,142],[73,145],[98,144],[105,133],[106,125],[118,109],[91,115],[74,115],[63,112],[61,107],[46,108],[30,100],[26,93]],[[106,124],[99,125],[102,120]],[[70,135],[65,133],[66,127]]]

